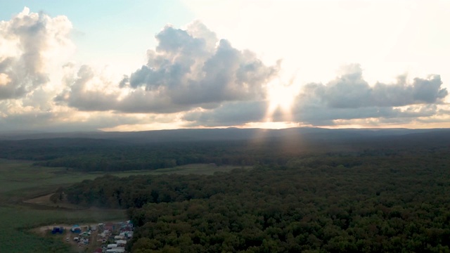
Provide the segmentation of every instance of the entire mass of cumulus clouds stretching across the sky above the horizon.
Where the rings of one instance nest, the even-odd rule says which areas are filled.
[[[267,96],[280,62],[264,64],[252,51],[217,38],[202,22],[186,29],[164,27],[155,35],[157,46],[146,52],[146,63],[117,80],[104,70],[67,63],[62,56],[73,49],[71,30],[68,18],[28,8],[0,22],[0,129],[449,120],[448,91],[438,74],[368,84],[361,66],[347,65],[325,84],[303,84],[285,110],[271,108]]]

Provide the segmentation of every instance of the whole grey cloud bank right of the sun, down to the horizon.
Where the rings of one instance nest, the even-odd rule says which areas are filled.
[[[306,84],[295,99],[294,120],[314,125],[332,125],[336,119],[430,117],[444,103],[448,91],[439,75],[412,83],[401,76],[394,84],[369,86],[359,65],[345,67],[344,73],[327,84]],[[402,119],[404,120],[404,119]]]

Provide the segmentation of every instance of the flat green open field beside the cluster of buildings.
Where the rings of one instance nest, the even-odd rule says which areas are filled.
[[[136,174],[214,174],[241,167],[191,164],[153,171],[124,171],[114,176]],[[247,167],[250,168],[250,167]],[[29,161],[0,160],[0,232],[1,252],[70,252],[70,245],[57,235],[39,236],[32,228],[54,223],[96,223],[127,219],[124,210],[76,209],[75,206],[51,205],[49,194],[60,186],[85,179],[95,179],[105,172],[79,172],[67,168],[33,166]],[[34,199],[34,201],[26,201]],[[77,252],[76,249],[75,252]]]

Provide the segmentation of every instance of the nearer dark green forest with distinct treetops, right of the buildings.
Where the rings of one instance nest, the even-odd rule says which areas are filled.
[[[449,252],[449,149],[378,151],[214,176],[103,176],[61,191],[128,208],[131,252]]]

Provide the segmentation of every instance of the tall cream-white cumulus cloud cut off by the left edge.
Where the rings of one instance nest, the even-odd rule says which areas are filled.
[[[72,46],[71,28],[64,16],[51,18],[26,7],[0,22],[0,100],[22,98],[50,82],[51,56]]]

